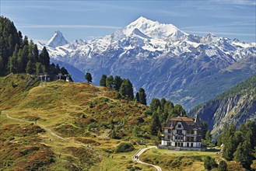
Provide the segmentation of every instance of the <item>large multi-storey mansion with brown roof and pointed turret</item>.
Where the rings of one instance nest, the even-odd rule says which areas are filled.
[[[162,148],[202,151],[202,125],[188,117],[174,117],[163,128]]]

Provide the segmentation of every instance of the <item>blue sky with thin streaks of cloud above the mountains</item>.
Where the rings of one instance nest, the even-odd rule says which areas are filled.
[[[12,1],[0,0],[1,16],[30,39],[49,40],[61,30],[68,41],[109,35],[139,16],[172,23],[186,33],[256,42],[256,0]]]

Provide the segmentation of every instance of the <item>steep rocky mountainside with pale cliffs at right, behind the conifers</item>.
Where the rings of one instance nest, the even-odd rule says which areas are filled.
[[[208,124],[214,138],[226,123],[239,127],[246,120],[256,120],[256,75],[195,107],[191,115],[197,114]]]

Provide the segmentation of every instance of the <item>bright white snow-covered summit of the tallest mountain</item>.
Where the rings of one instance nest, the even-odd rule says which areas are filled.
[[[146,19],[142,16],[130,23],[128,26],[125,26],[123,33],[128,36],[131,35],[135,29],[138,29],[140,32],[144,33],[147,37],[162,40],[177,40],[188,35],[172,24],[159,23],[157,21]]]

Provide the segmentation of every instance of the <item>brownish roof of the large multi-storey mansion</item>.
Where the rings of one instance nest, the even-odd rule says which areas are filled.
[[[181,123],[184,126],[184,129],[186,129],[186,130],[197,130],[198,127],[201,127],[201,124],[198,125],[198,124],[195,123],[196,120],[194,121],[192,118],[188,118],[188,117],[174,117],[174,118],[171,118],[167,122],[167,124],[165,124],[164,127],[174,128],[178,121],[181,121]],[[199,122],[200,122],[200,120],[199,120]]]

